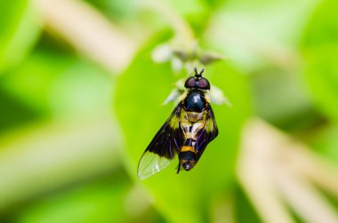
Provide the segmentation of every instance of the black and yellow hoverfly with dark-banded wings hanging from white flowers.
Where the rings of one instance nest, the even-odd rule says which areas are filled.
[[[138,165],[140,179],[162,171],[178,155],[177,173],[182,169],[190,171],[198,162],[209,142],[217,137],[218,129],[207,92],[209,81],[197,72],[190,76],[184,87],[186,92],[173,109],[154,139],[141,156]]]

